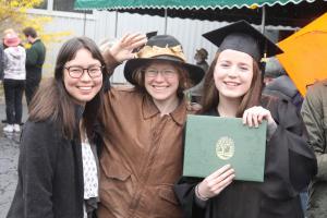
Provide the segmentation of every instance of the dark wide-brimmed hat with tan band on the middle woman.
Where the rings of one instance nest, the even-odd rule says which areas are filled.
[[[136,58],[129,60],[124,68],[124,76],[131,84],[136,84],[133,80],[133,72],[154,60],[170,61],[183,66],[196,85],[203,78],[205,72],[202,68],[186,63],[183,48],[173,36],[157,35],[148,39],[147,44],[136,53]]]

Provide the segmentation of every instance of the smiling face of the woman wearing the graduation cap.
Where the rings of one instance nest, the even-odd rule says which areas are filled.
[[[223,50],[217,60],[214,80],[219,99],[242,99],[253,78],[253,58],[244,52]]]

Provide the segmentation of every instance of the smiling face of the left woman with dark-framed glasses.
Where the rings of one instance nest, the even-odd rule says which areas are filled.
[[[74,59],[65,63],[63,72],[63,82],[66,92],[80,105],[85,105],[92,100],[100,90],[102,85],[102,73],[97,77],[90,77],[86,70],[80,78],[70,76],[66,68],[78,66],[89,69],[92,66],[100,66],[100,61],[94,59],[87,49],[80,49]]]

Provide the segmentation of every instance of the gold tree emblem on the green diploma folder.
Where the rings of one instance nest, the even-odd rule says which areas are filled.
[[[216,144],[216,155],[218,158],[228,160],[234,155],[234,141],[229,136],[222,136]]]

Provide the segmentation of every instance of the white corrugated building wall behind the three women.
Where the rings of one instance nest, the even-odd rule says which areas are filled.
[[[46,26],[47,32],[71,32],[70,37],[86,35],[93,38],[97,44],[100,44],[106,38],[119,38],[126,33],[133,32],[147,33],[158,31],[158,34],[165,34],[165,17],[159,16],[108,11],[94,11],[93,14],[85,16],[85,14],[80,13],[49,12],[46,10],[31,10],[31,14],[52,17],[52,22]],[[217,48],[201,35],[226,24],[227,23],[223,22],[168,17],[167,34],[173,35],[181,41],[189,62],[194,63],[194,52],[202,47],[208,50],[209,62],[214,58]],[[276,38],[276,35],[272,36],[272,39],[274,38]],[[47,45],[48,53],[45,75],[52,74],[60,46],[61,44]],[[125,83],[122,70],[123,66],[116,70],[111,82]]]

